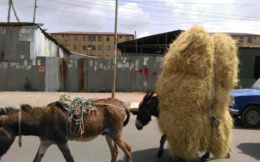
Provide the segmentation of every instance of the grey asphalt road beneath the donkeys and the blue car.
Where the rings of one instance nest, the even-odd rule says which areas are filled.
[[[158,131],[156,119],[145,126],[141,131],[135,127],[135,115],[131,115],[130,121],[123,129],[123,137],[132,147],[133,162],[170,162],[172,161],[168,149],[164,149],[162,158],[158,158],[157,152],[160,145],[161,134]],[[255,162],[260,161],[260,129],[248,129],[243,126],[240,119],[235,120],[233,132],[233,145],[230,159],[220,159],[221,162]],[[22,147],[18,146],[18,138],[5,154],[1,162],[33,161],[39,147],[38,137],[22,136]],[[110,161],[110,150],[104,136],[99,136],[90,142],[69,141],[70,151],[75,161],[100,162]],[[165,143],[165,148],[167,142]],[[43,162],[65,161],[56,145],[49,147],[43,157]],[[118,153],[118,162],[125,162],[126,158],[121,149]],[[211,157],[208,161],[216,161]]]

